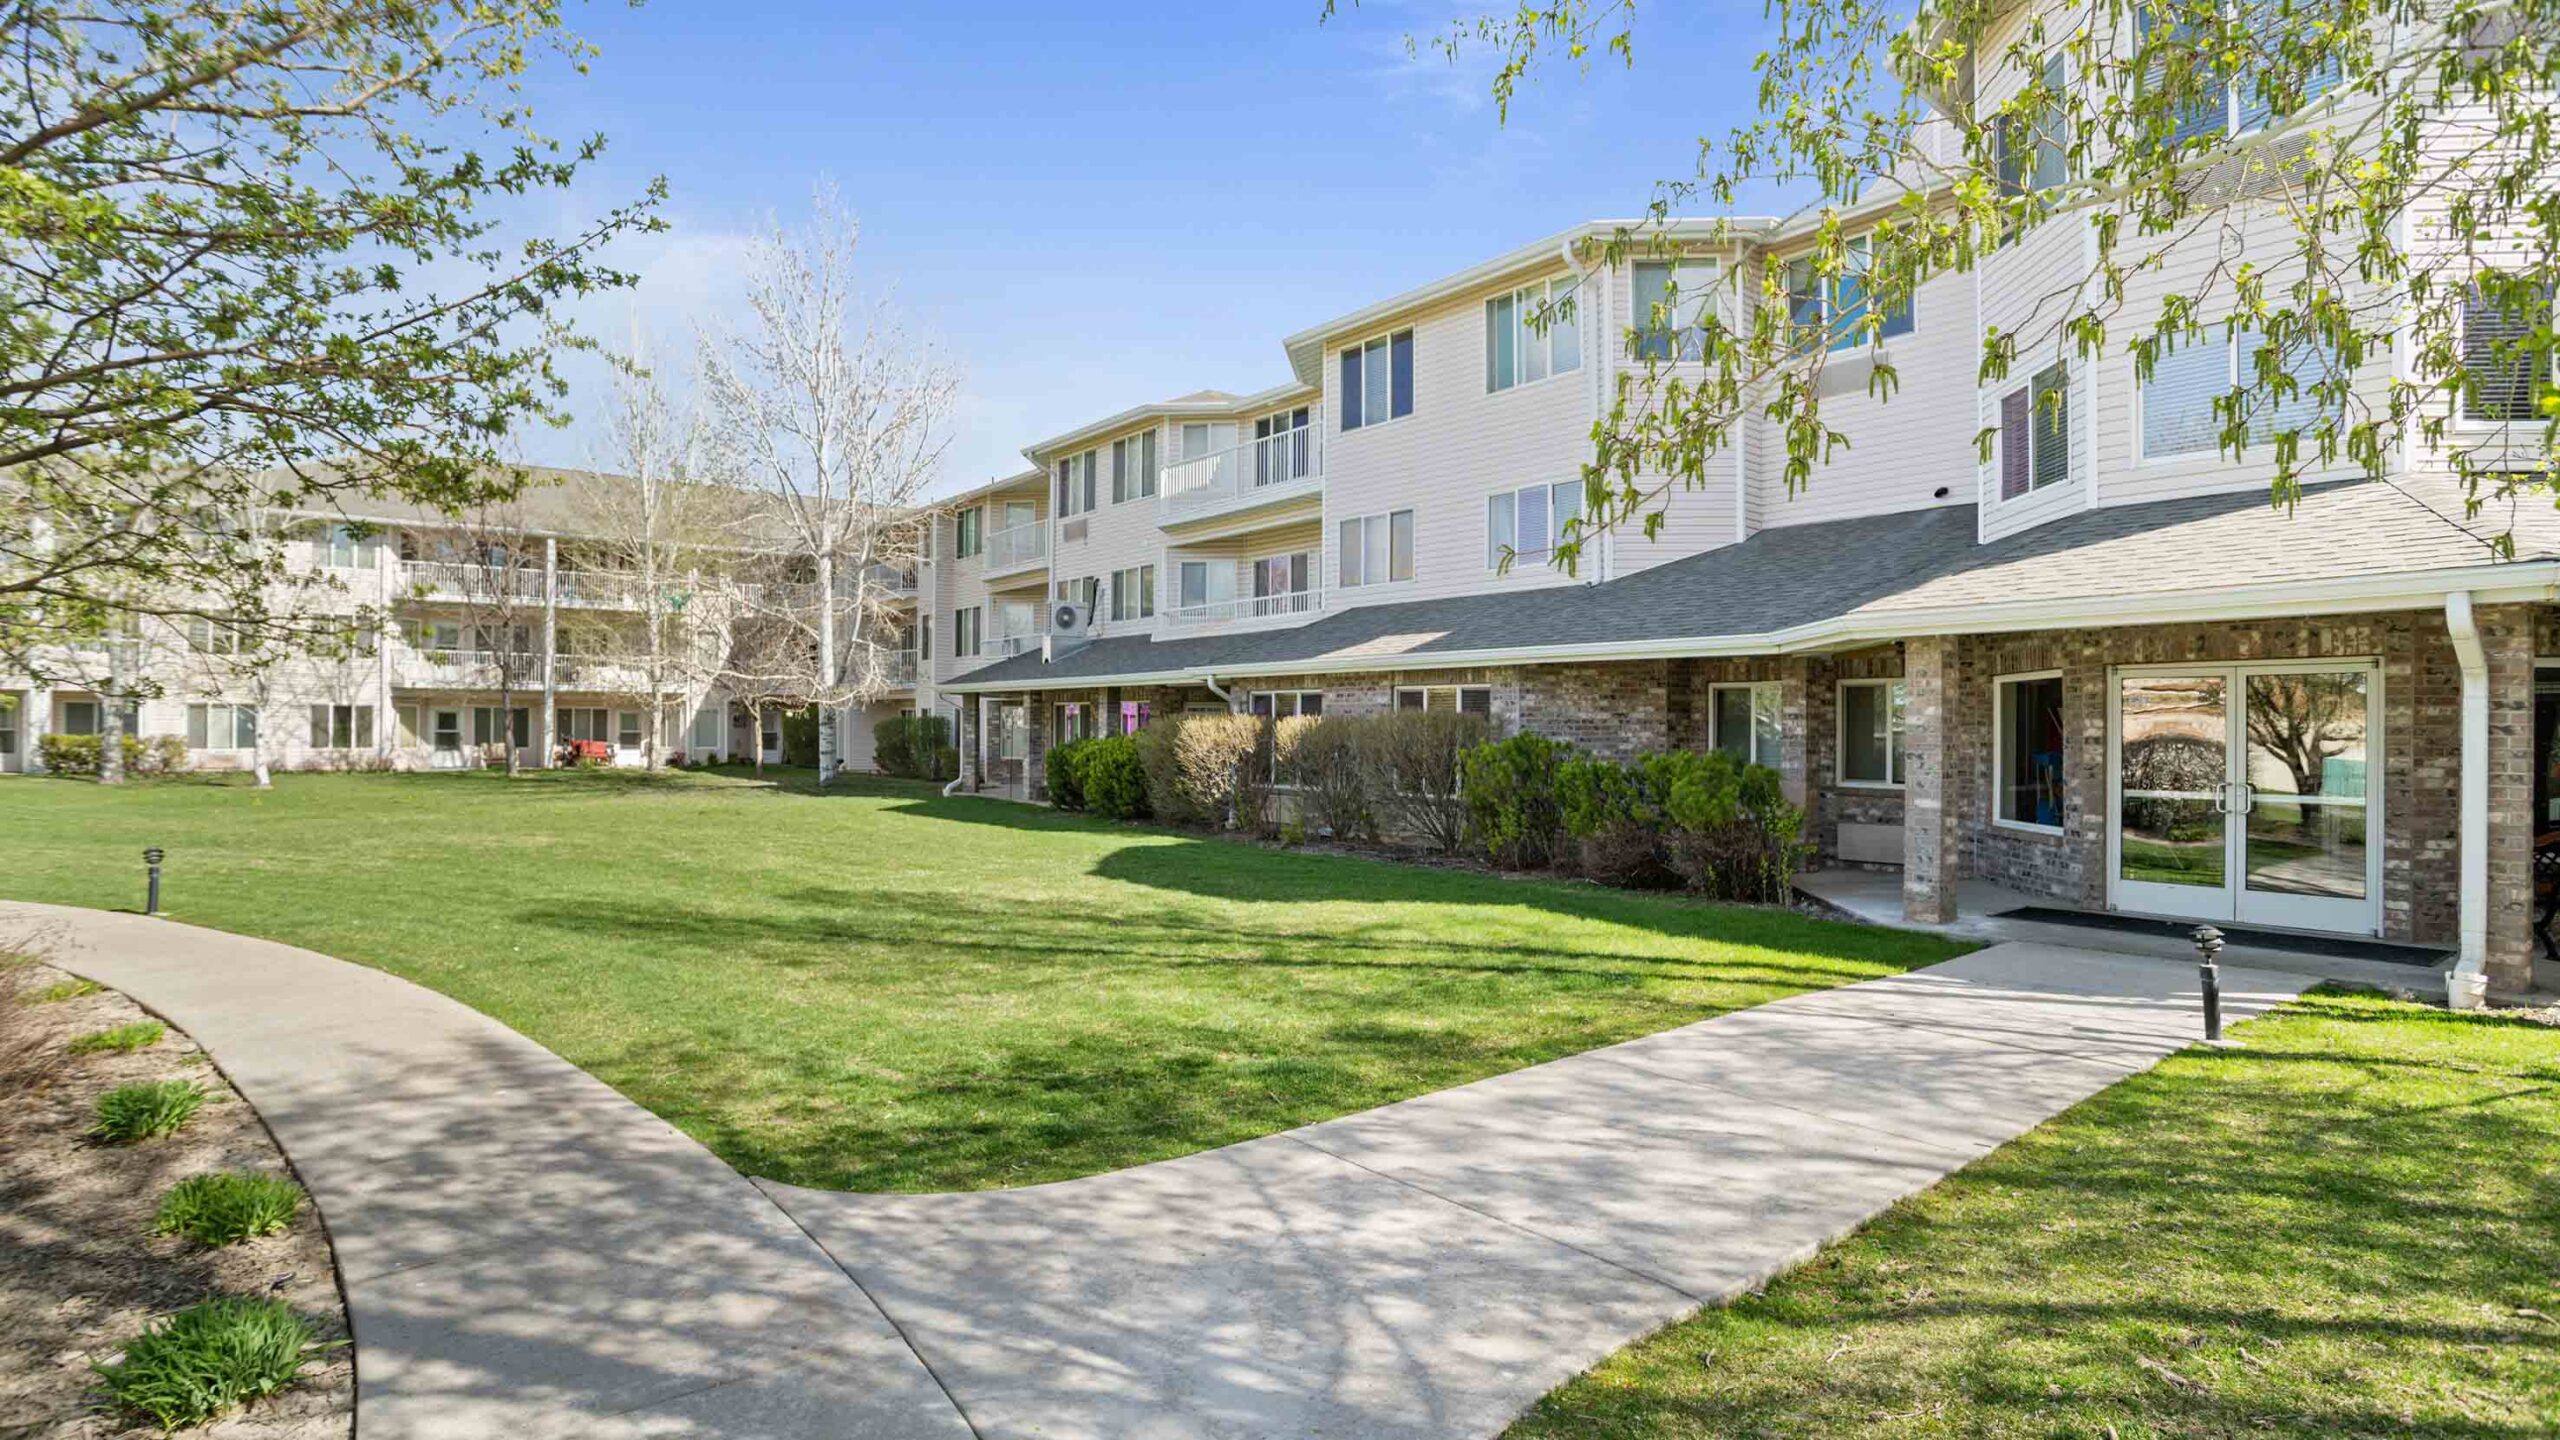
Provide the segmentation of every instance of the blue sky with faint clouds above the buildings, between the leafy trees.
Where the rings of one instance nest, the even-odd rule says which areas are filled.
[[[556,136],[604,131],[579,200],[653,174],[668,236],[584,325],[689,346],[735,307],[740,236],[832,179],[863,284],[963,372],[942,489],[1144,400],[1288,377],[1280,338],[1577,220],[1641,213],[1697,136],[1748,118],[1759,3],[1641,13],[1636,67],[1551,69],[1513,105],[1408,33],[1459,10],[1254,5],[594,5],[591,74],[530,87]],[[566,223],[576,208],[561,210]],[[599,405],[579,366],[579,407]],[[594,464],[594,428],[527,459]]]

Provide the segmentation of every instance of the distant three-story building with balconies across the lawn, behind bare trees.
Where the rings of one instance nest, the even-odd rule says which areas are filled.
[[[678,594],[643,594],[617,571],[576,505],[576,477],[538,471],[504,530],[397,505],[346,502],[276,518],[287,564],[325,577],[300,589],[307,630],[348,618],[340,643],[287,643],[241,653],[241,635],[210,620],[151,620],[131,638],[123,684],[105,684],[105,653],[84,666],[97,689],[0,689],[0,771],[38,769],[46,733],[95,735],[105,689],[154,692],[128,702],[125,733],[179,735],[197,769],[463,769],[512,746],[527,766],[584,743],[637,766],[648,707],[666,707],[668,758],[783,758],[781,707],[750,715],[717,682],[704,638],[668,623],[658,674],[648,664],[645,607],[681,618]],[[589,482],[609,482],[596,477]],[[916,577],[891,577],[893,605],[914,607]],[[356,612],[389,623],[353,628]],[[899,630],[904,635],[904,630]],[[911,653],[888,666],[891,702],[914,694]],[[760,720],[760,723],[758,723]],[[868,735],[850,764],[868,766]]]

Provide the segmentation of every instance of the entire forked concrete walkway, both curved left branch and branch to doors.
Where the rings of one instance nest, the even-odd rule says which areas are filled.
[[[2196,1035],[2191,966],[1997,945],[1132,1171],[760,1194],[381,971],[0,902],[28,922],[302,1171],[358,1440],[1495,1435]],[[2225,974],[2235,1020],[2309,984]]]

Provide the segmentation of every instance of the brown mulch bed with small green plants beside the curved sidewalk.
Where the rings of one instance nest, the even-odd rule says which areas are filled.
[[[0,963],[8,963],[0,956]],[[307,1314],[323,1340],[348,1335],[338,1271],[317,1212],[264,1240],[202,1250],[151,1235],[161,1194],[200,1171],[287,1171],[274,1138],[205,1051],[179,1030],[128,1056],[74,1056],[74,1035],[146,1020],[108,989],[33,997],[64,971],[13,963],[0,974],[0,1440],[159,1435],[100,1409],[92,1361],[113,1361],[146,1322],[218,1294],[271,1294]],[[102,1145],[84,1133],[118,1084],[195,1079],[210,1094],[177,1135]],[[223,1440],[348,1440],[356,1427],[353,1350],[335,1345],[302,1384],[192,1435]]]

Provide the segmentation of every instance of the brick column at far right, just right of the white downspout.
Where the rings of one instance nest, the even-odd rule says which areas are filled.
[[[2534,984],[2534,612],[2476,612],[2488,661],[2488,994]],[[2465,756],[2468,758],[2468,756]]]

